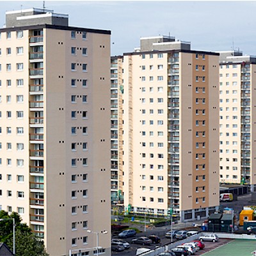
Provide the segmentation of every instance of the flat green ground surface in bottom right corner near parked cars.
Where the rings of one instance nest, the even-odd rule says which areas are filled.
[[[256,240],[236,239],[228,244],[220,246],[204,256],[252,256],[256,250]]]

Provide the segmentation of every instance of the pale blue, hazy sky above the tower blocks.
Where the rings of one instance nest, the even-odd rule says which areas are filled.
[[[44,1],[0,1],[5,12],[42,8]],[[198,51],[240,50],[256,56],[256,1],[45,1],[69,15],[69,26],[111,30],[111,55],[132,52],[140,38],[172,35]]]

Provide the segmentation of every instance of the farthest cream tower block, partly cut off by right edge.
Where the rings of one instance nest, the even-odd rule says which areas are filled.
[[[256,57],[220,52],[220,181],[256,184]],[[255,95],[255,96],[254,96]]]

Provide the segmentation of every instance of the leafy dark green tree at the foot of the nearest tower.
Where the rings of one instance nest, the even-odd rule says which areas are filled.
[[[44,242],[36,238],[17,212],[0,211],[0,219],[15,219],[15,256],[47,256]],[[0,221],[0,241],[13,248],[13,220]]]

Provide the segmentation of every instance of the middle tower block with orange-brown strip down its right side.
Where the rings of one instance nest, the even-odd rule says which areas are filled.
[[[111,58],[113,106],[122,105],[113,108],[122,118],[112,119],[121,138],[111,138],[112,152],[120,148],[111,172],[126,210],[171,208],[186,221],[218,209],[218,55],[157,36]]]

